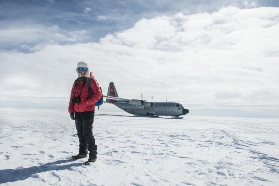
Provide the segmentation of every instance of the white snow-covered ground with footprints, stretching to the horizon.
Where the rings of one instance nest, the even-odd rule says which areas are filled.
[[[98,159],[67,111],[0,108],[0,185],[278,185],[279,119],[96,112]]]

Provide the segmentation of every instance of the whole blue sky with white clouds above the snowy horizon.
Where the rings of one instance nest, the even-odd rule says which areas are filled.
[[[0,1],[0,106],[67,109],[76,64],[87,61],[103,90],[113,81],[123,98],[143,93],[192,114],[278,117],[278,6]]]

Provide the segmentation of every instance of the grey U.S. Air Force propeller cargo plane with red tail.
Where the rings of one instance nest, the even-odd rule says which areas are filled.
[[[110,82],[108,86],[107,96],[103,97],[107,98],[104,103],[114,104],[129,114],[138,116],[174,116],[174,118],[181,119],[182,117],[179,116],[189,113],[189,110],[185,109],[182,104],[167,102],[167,100],[166,102],[152,102],[152,98],[151,102],[147,102],[145,100],[119,98],[113,82]]]

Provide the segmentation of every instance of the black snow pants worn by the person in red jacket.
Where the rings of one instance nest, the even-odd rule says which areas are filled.
[[[97,146],[92,133],[95,111],[76,112],[75,123],[78,132],[79,154],[87,155],[89,158],[97,157]]]

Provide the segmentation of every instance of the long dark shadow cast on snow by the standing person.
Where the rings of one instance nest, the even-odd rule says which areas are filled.
[[[46,171],[53,171],[53,170],[65,170],[69,169],[73,166],[81,166],[83,163],[71,163],[67,165],[57,165],[60,163],[67,163],[72,162],[74,160],[57,160],[55,162],[50,162],[43,164],[41,166],[32,166],[28,168],[22,168],[22,169],[4,169],[0,170],[0,184],[1,183],[7,183],[7,182],[15,182],[18,180],[25,180],[29,177],[37,178],[38,175],[35,175],[36,173],[46,172]],[[60,177],[55,173],[52,172],[53,176]]]

